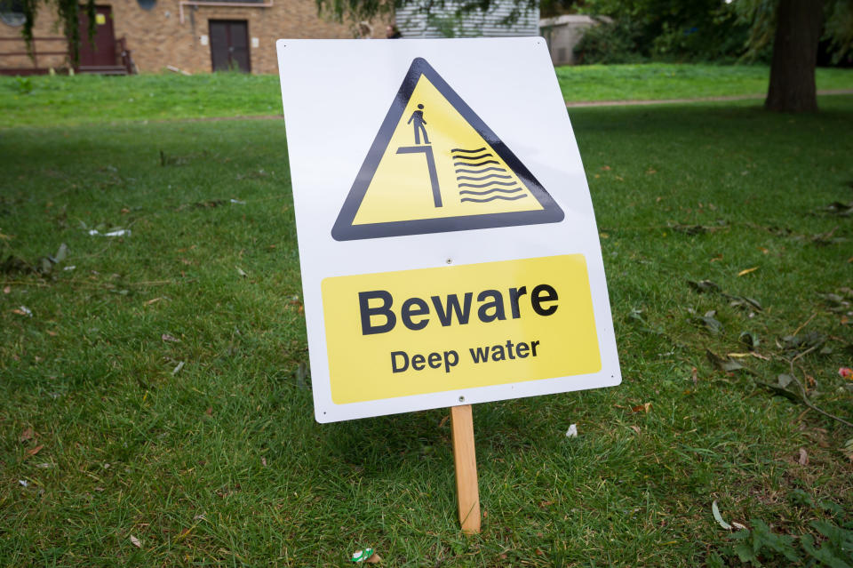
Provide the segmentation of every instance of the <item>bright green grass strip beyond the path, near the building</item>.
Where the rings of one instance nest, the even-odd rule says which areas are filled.
[[[610,65],[557,68],[565,99],[653,100],[767,92],[761,66]],[[853,70],[817,69],[818,89],[853,89]],[[0,129],[281,115],[277,76],[0,76]]]

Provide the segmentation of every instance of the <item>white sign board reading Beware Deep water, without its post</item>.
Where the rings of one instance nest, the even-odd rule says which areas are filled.
[[[279,40],[315,416],[621,380],[540,37]]]

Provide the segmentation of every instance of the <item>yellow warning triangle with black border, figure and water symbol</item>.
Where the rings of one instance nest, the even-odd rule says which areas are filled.
[[[331,236],[348,241],[562,219],[560,206],[524,164],[417,58]]]

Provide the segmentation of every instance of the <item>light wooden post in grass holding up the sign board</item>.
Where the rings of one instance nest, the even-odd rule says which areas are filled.
[[[474,418],[471,404],[450,407],[453,460],[456,462],[456,500],[462,532],[480,532],[480,489],[477,485],[477,456],[474,453]]]

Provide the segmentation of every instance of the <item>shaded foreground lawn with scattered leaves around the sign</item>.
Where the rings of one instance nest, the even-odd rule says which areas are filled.
[[[820,102],[571,110],[624,382],[474,408],[471,539],[446,411],[313,419],[282,122],[4,130],[0,565],[737,565],[713,500],[805,565],[767,542],[853,522],[853,429],[759,381],[853,414],[853,97]]]

